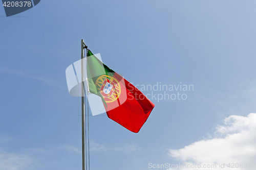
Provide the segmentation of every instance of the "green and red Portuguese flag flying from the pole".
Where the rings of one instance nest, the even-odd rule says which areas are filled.
[[[87,53],[89,92],[100,96],[109,118],[138,133],[155,105],[134,85]]]

